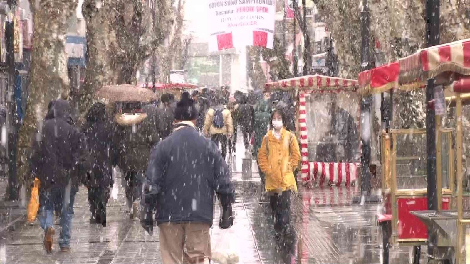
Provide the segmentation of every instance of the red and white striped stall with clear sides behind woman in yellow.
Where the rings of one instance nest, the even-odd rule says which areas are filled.
[[[266,83],[266,93],[276,91],[296,99],[302,183],[354,184],[360,167],[357,81],[308,75]]]

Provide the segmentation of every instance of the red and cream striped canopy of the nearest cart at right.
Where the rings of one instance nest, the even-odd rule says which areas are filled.
[[[421,49],[397,62],[363,71],[359,85],[363,93],[416,89],[444,72],[470,75],[470,39]]]

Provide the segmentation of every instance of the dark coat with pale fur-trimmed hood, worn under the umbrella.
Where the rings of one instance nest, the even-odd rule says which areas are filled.
[[[145,171],[150,149],[160,139],[155,116],[150,113],[118,113],[114,116],[114,123],[113,141],[117,148],[119,168],[124,171]]]

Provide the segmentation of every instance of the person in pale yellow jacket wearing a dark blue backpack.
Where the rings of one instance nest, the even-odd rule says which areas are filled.
[[[222,156],[227,157],[228,140],[234,132],[232,114],[222,103],[221,99],[214,99],[214,103],[207,110],[204,118],[204,135],[211,137],[217,147],[222,145]]]

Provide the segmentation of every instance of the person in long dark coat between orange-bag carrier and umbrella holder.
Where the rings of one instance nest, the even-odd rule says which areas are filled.
[[[83,184],[88,187],[90,223],[106,226],[106,203],[114,182],[111,169],[112,127],[106,118],[104,104],[95,103],[88,110],[83,132],[90,152],[88,164],[91,165],[90,171],[83,175]]]

